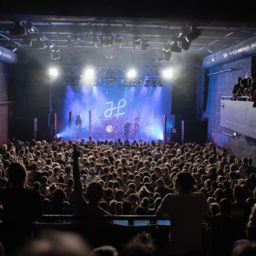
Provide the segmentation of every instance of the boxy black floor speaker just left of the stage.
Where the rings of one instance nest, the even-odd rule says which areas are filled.
[[[15,120],[15,138],[22,141],[37,140],[37,118],[18,118]]]

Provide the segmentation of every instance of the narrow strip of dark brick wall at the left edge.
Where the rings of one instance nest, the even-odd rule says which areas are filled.
[[[8,101],[9,71],[8,65],[0,61],[0,145],[8,141]]]

